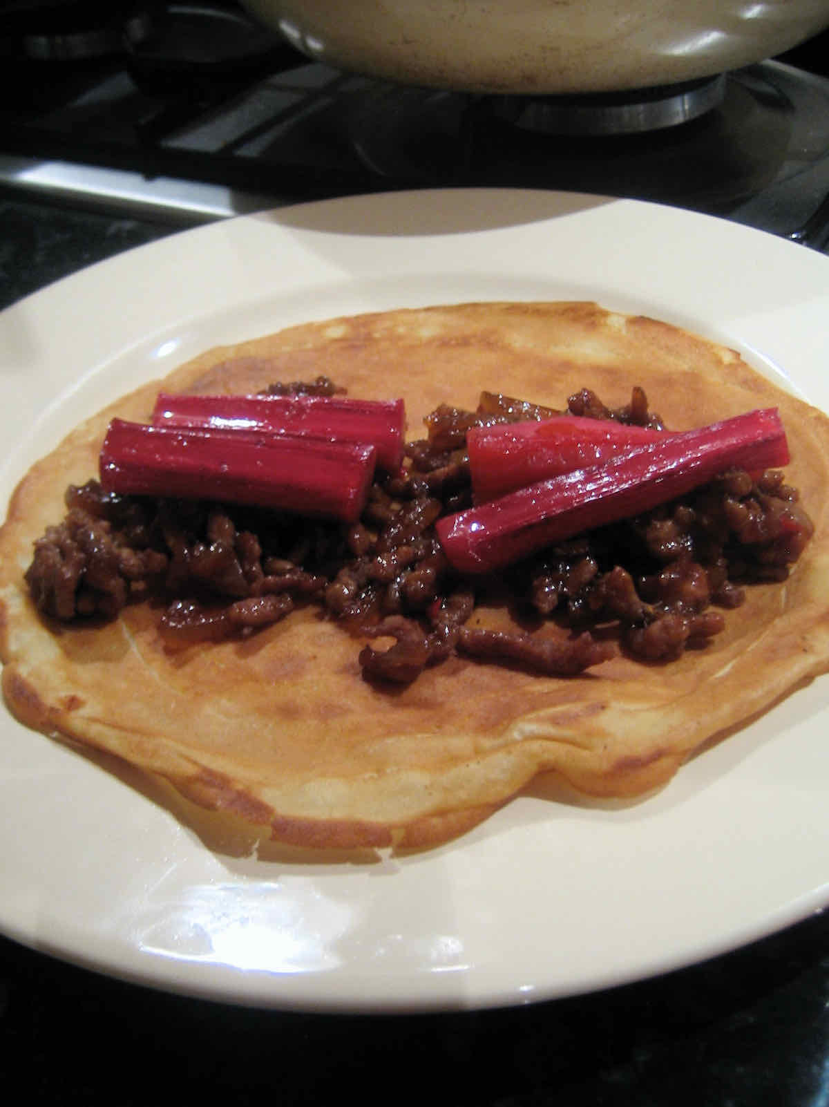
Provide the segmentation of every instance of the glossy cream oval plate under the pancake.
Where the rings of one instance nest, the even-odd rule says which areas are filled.
[[[583,298],[726,342],[829,408],[829,259],[629,200],[397,193],[174,236],[0,315],[0,494],[81,417],[210,345],[362,310]],[[446,847],[343,863],[217,842],[153,787],[2,715],[0,928],[126,979],[284,1008],[611,986],[829,901],[828,721],[823,679],[642,801],[539,787]]]

